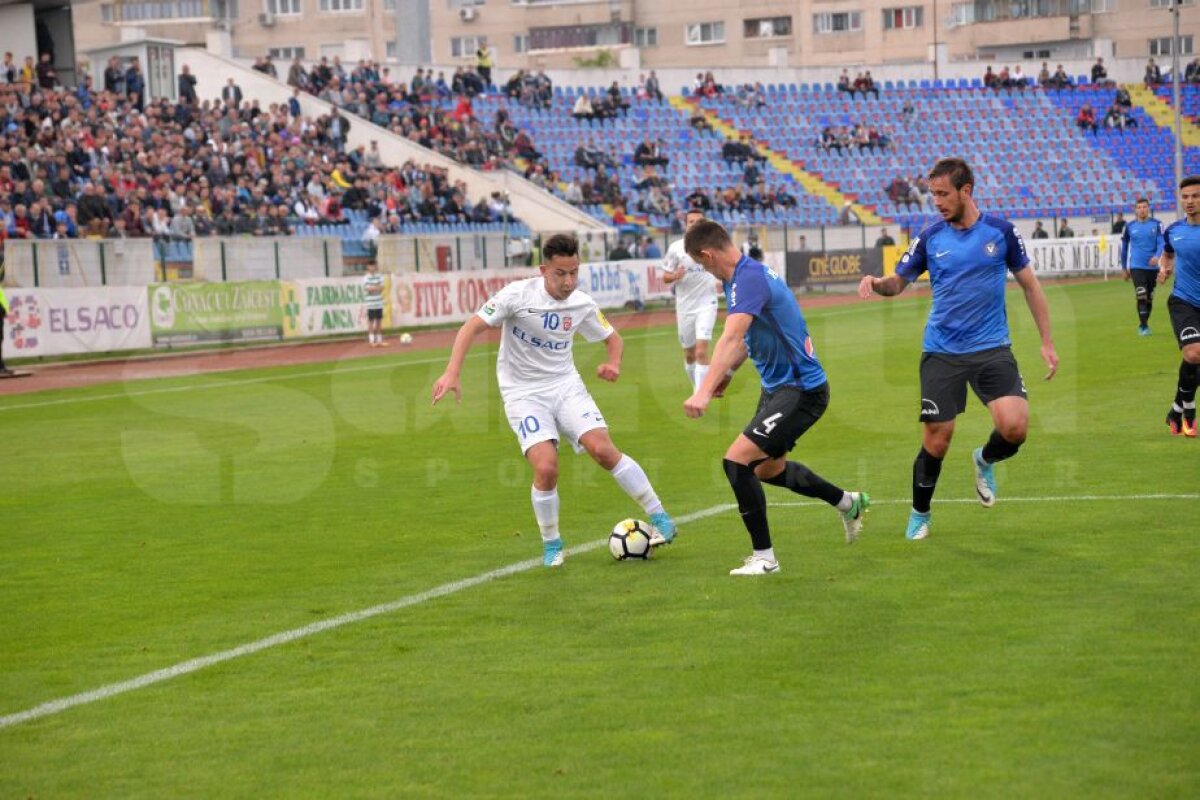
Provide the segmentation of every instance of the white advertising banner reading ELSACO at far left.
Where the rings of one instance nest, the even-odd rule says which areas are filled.
[[[10,289],[5,355],[14,359],[150,347],[140,287]]]

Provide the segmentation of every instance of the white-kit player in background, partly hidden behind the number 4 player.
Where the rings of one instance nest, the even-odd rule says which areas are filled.
[[[689,209],[684,216],[684,231],[703,218],[703,211]],[[662,279],[674,288],[676,327],[683,345],[684,369],[695,391],[708,374],[708,343],[713,341],[713,327],[716,326],[718,283],[691,260],[683,248],[683,239],[671,242],[667,248],[662,259]],[[722,381],[714,397],[721,396],[727,383]]]

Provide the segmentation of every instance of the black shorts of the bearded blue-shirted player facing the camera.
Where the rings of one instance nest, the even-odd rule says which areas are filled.
[[[920,421],[949,422],[967,410],[967,385],[984,405],[1000,397],[1027,397],[1016,359],[1007,347],[920,356]]]

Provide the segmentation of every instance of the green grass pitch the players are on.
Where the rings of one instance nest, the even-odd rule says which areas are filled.
[[[1165,296],[1135,335],[1120,282],[1046,287],[1043,383],[1009,295],[1030,441],[972,501],[972,398],[904,539],[928,299],[812,308],[832,381],[793,457],[880,503],[847,547],[767,487],[778,576],[720,473],[751,371],[684,417],[673,329],[622,379],[577,360],[677,516],[644,564],[605,549],[0,728],[0,798],[1194,798],[1200,441],[1163,416]],[[540,553],[529,474],[479,348],[0,398],[0,716]],[[569,546],[640,516],[564,453]],[[1164,498],[1153,495],[1184,495]],[[1126,498],[1126,499],[1104,499]]]

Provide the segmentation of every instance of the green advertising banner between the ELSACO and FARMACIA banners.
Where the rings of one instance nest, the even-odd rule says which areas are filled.
[[[160,283],[145,291],[155,347],[283,336],[286,299],[278,281]]]

